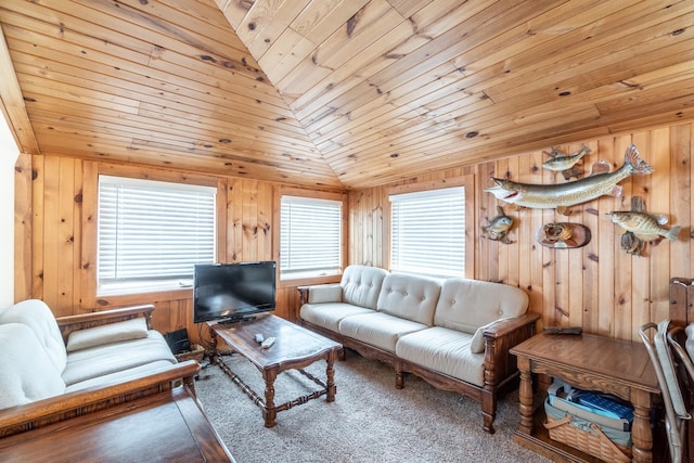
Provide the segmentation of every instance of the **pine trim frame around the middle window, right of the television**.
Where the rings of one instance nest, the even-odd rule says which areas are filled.
[[[339,243],[339,254],[342,268],[335,274],[330,275],[321,275],[321,276],[304,276],[304,278],[282,278],[281,272],[281,231],[282,231],[282,196],[298,196],[306,197],[310,200],[331,200],[338,201],[342,203],[342,211],[340,211],[340,243]],[[330,191],[312,191],[305,190],[300,188],[292,188],[292,187],[280,187],[277,190],[275,194],[275,213],[274,213],[274,223],[277,223],[277,233],[273,234],[273,255],[274,259],[278,262],[278,287],[296,287],[309,284],[324,284],[324,283],[333,283],[337,282],[342,279],[343,271],[346,267],[347,259],[347,194],[342,192],[330,192]]]

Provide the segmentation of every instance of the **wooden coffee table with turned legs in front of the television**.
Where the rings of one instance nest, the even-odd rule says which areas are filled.
[[[332,402],[335,400],[336,387],[333,365],[337,359],[337,353],[343,347],[340,344],[273,314],[260,316],[255,320],[233,324],[207,322],[207,325],[209,326],[213,342],[211,362],[218,364],[260,408],[265,419],[265,427],[273,427],[277,424],[278,412],[306,403],[311,399],[325,395],[326,401]],[[272,347],[264,349],[255,340],[256,334],[261,334],[265,338],[274,337],[277,340]],[[234,352],[245,357],[260,370],[265,381],[265,400],[232,372],[224,362],[219,360],[218,338],[223,339]],[[325,369],[326,382],[303,370],[322,359],[327,363]],[[274,380],[281,372],[286,370],[299,371],[319,385],[321,389],[275,406]]]

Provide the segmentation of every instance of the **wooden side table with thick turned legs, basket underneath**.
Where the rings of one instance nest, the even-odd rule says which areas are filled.
[[[612,339],[590,334],[567,335],[540,333],[515,346],[520,371],[520,423],[514,440],[556,461],[591,461],[591,456],[549,438],[538,426],[543,410],[534,407],[532,373],[557,377],[589,390],[614,394],[633,404],[631,430],[633,461],[653,461],[651,409],[660,394],[651,359],[641,343]],[[547,384],[544,385],[547,386]],[[542,400],[545,390],[540,390]]]

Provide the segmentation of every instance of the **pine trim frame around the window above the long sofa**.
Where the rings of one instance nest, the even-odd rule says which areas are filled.
[[[463,187],[465,189],[465,272],[464,278],[475,278],[475,245],[473,237],[475,234],[476,214],[475,214],[475,176],[473,173],[448,178],[444,180],[432,180],[411,184],[393,187],[386,190],[384,201],[384,222],[387,223],[387,230],[384,227],[384,240],[387,240],[388,246],[384,258],[387,262],[388,271],[393,271],[393,207],[390,202],[391,195],[406,193],[420,193],[432,190],[442,190],[448,188]]]

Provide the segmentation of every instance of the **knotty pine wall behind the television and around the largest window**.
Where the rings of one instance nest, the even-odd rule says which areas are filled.
[[[15,300],[44,300],[56,317],[154,304],[154,327],[187,327],[192,339],[192,290],[97,297],[97,189],[99,173],[182,181],[218,188],[218,261],[277,260],[273,233],[280,183],[134,168],[64,156],[22,155],[16,164]],[[290,187],[295,194],[300,188]],[[311,196],[325,194],[307,191]],[[304,284],[305,282],[297,282]],[[296,285],[278,282],[277,314],[294,317]],[[207,337],[206,331],[202,333]]]

